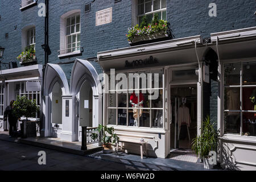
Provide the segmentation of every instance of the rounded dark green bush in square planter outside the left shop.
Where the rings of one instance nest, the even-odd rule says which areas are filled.
[[[39,111],[36,101],[28,100],[26,96],[18,96],[13,105],[13,112],[17,118],[26,117],[26,123],[22,121],[23,137],[36,137],[36,122],[28,122],[28,117],[35,118]]]

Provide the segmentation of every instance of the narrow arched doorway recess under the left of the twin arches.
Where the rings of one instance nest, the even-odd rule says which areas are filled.
[[[50,136],[60,137],[62,130],[62,90],[58,82],[56,82],[51,92],[51,125]]]

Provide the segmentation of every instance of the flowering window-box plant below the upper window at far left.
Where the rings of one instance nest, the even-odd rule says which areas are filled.
[[[21,65],[32,65],[36,64],[36,56],[35,56],[35,49],[34,45],[27,46],[25,48],[25,51],[22,52],[18,57],[16,57],[19,60],[19,64]]]

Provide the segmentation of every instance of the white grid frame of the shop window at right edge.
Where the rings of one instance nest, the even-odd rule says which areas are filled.
[[[225,78],[225,71],[224,71],[224,68],[225,68],[225,64],[236,64],[236,63],[240,63],[241,64],[241,71],[240,71],[240,85],[232,85],[232,86],[225,86],[224,83],[224,78]],[[256,60],[230,60],[230,61],[222,61],[222,63],[220,64],[220,67],[221,67],[221,136],[224,136],[224,137],[238,137],[238,138],[247,138],[247,139],[255,139],[256,136],[245,136],[245,135],[242,135],[242,114],[244,112],[250,112],[250,113],[256,113],[256,111],[254,110],[243,110],[242,108],[242,104],[243,104],[243,101],[242,101],[242,89],[243,88],[246,88],[246,87],[255,87],[256,88],[256,85],[243,85],[242,84],[242,78],[243,78],[243,64],[244,63],[256,63]],[[240,110],[225,110],[225,102],[224,102],[224,98],[225,98],[225,88],[240,88]],[[225,123],[224,123],[224,113],[225,112],[234,112],[234,113],[240,113],[240,133],[239,134],[234,134],[234,133],[225,133]]]

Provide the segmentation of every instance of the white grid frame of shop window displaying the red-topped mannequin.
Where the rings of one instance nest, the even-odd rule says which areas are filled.
[[[141,129],[164,129],[164,121],[165,121],[165,116],[164,116],[164,68],[149,68],[149,69],[143,69],[143,70],[133,70],[133,71],[116,71],[115,73],[124,73],[124,74],[128,74],[129,73],[155,73],[155,72],[159,72],[159,71],[162,71],[163,75],[162,75],[162,87],[159,86],[159,88],[146,88],[146,89],[140,89],[139,88],[139,81],[138,81],[138,89],[123,89],[122,91],[125,91],[127,92],[126,93],[126,102],[127,102],[127,105],[126,107],[118,107],[118,93],[117,91],[121,91],[121,90],[106,90],[106,94],[105,94],[105,98],[106,98],[106,102],[105,102],[105,109],[106,109],[106,112],[105,112],[105,115],[106,115],[106,125],[109,125],[109,126],[121,126],[121,127],[131,127],[131,128],[141,128]],[[109,73],[108,73],[109,75]],[[147,76],[147,75],[146,75]],[[154,75],[152,75],[153,77]],[[109,76],[109,79],[110,79],[110,76]],[[152,85],[151,85],[152,86]],[[110,85],[109,85],[109,88],[110,88]],[[157,89],[157,90],[162,90],[162,103],[163,103],[163,106],[162,107],[151,107],[151,100],[150,101],[150,107],[143,107],[142,110],[150,110],[150,126],[149,127],[144,127],[144,126],[140,126],[141,122],[139,121],[139,118],[138,118],[138,126],[135,127],[135,126],[129,126],[129,110],[132,110],[134,109],[134,107],[129,107],[129,90],[139,90],[140,92],[142,90],[149,90],[149,89]],[[108,100],[108,95],[110,92],[115,92],[115,107],[109,107],[109,100]],[[123,92],[122,92],[123,93]],[[124,94],[124,93],[123,93]],[[138,94],[138,100],[139,100],[139,94]],[[108,118],[108,110],[110,109],[115,109],[115,125],[112,125],[112,124],[109,124],[109,118]],[[118,125],[118,109],[126,109],[126,125],[123,126],[123,125]],[[154,127],[152,126],[152,110],[162,110],[162,122],[163,122],[163,126],[162,127]]]

